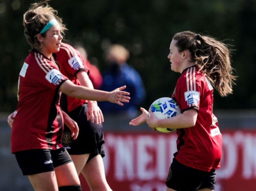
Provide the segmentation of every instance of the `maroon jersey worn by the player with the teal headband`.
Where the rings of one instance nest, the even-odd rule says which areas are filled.
[[[63,116],[58,88],[66,79],[54,61],[35,50],[30,52],[19,75],[12,152],[62,147]]]

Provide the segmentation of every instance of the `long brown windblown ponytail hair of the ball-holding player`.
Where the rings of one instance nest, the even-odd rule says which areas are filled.
[[[233,93],[236,76],[233,74],[228,45],[191,31],[176,33],[173,40],[177,40],[178,51],[189,50],[192,62],[195,62],[222,97]]]

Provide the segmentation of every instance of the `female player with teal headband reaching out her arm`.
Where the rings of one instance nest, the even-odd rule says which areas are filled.
[[[52,53],[60,49],[65,26],[57,11],[46,2],[32,4],[23,18],[25,37],[32,51],[19,74],[11,151],[35,190],[78,191],[81,186],[74,163],[61,144],[61,92],[78,99],[119,105],[129,102],[130,97],[128,92],[122,91],[125,86],[112,92],[93,90],[73,84],[59,71]],[[65,114],[64,120],[68,120]],[[73,127],[72,134],[77,136],[77,126],[73,124]]]

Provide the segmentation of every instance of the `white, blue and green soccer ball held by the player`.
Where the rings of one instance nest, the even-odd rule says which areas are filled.
[[[153,112],[157,119],[167,119],[172,118],[181,113],[180,107],[177,102],[170,97],[162,97],[154,101],[149,110]],[[160,128],[156,127],[156,130],[160,132],[172,132],[176,129],[171,127],[169,128]]]

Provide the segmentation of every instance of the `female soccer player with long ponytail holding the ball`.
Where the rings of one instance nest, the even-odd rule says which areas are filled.
[[[230,50],[222,42],[191,31],[176,33],[168,59],[171,70],[181,73],[172,98],[182,114],[156,119],[141,108],[130,125],[147,122],[152,129],[177,129],[177,152],[166,179],[167,191],[212,191],[220,167],[222,136],[213,114],[213,87],[221,96],[232,94]]]

